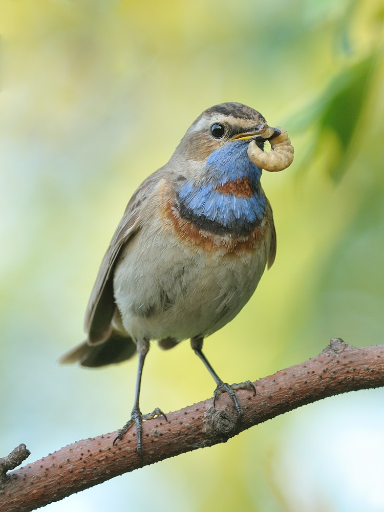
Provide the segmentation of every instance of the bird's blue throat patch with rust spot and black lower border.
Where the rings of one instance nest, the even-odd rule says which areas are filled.
[[[248,144],[233,141],[212,152],[201,178],[185,178],[177,189],[180,215],[218,234],[245,236],[261,223],[266,198],[261,169],[247,155]]]

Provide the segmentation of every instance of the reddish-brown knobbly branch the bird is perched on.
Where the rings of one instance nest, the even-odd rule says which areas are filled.
[[[384,345],[355,348],[332,338],[317,357],[262,378],[254,386],[255,396],[237,391],[244,411],[241,425],[226,393],[219,396],[215,409],[209,398],[167,414],[167,422],[145,421],[144,463],[136,452],[132,428],[116,446],[112,442],[117,432],[113,432],[70,444],[11,473],[5,474],[11,468],[6,464],[0,479],[0,512],[28,512],[143,465],[226,442],[304,404],[384,386]]]

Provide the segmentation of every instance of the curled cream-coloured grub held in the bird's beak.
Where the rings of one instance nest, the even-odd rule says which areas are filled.
[[[251,140],[248,145],[248,157],[255,165],[261,169],[268,170],[269,172],[278,172],[279,170],[286,169],[293,162],[293,146],[288,137],[288,133],[281,126],[276,126],[281,131],[277,137],[269,140],[271,150],[269,153],[260,149],[260,147]],[[266,126],[264,133],[260,134],[263,138],[270,137],[269,126]]]

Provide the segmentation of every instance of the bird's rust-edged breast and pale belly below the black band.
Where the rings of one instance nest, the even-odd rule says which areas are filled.
[[[165,180],[159,193],[116,266],[115,300],[133,339],[179,342],[217,331],[246,304],[268,260],[273,220],[267,203],[246,236],[209,232],[182,218]]]

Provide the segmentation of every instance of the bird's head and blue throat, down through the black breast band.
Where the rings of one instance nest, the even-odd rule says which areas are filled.
[[[252,140],[262,149],[280,133],[269,129],[266,137],[266,127],[260,112],[241,103],[212,106],[191,124],[170,161],[181,217],[215,233],[242,235],[262,221],[262,169],[247,150]]]

